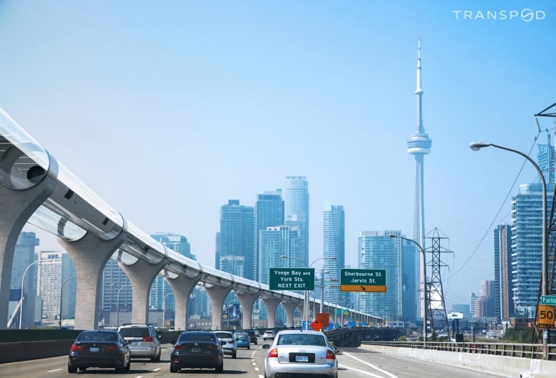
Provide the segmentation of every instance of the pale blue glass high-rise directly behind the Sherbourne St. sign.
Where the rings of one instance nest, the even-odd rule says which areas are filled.
[[[361,231],[359,233],[357,263],[359,269],[386,270],[386,292],[358,293],[359,310],[378,315],[390,325],[402,321],[402,248],[398,230]]]

